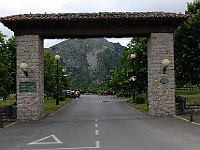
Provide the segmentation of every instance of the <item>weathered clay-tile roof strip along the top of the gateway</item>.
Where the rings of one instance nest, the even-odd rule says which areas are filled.
[[[52,21],[52,20],[114,20],[114,19],[185,19],[185,14],[169,12],[99,12],[99,13],[58,13],[58,14],[19,14],[1,17],[0,21]]]

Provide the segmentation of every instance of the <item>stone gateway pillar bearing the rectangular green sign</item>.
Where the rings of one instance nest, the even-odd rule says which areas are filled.
[[[39,120],[44,110],[43,39],[38,35],[16,36],[17,40],[17,118]],[[20,69],[28,64],[28,77]]]

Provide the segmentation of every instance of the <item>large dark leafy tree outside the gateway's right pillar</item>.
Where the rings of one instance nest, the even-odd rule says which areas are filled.
[[[177,86],[200,84],[200,1],[187,7],[189,18],[174,34]]]

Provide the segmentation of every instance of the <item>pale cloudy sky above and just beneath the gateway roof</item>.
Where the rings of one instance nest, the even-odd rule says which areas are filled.
[[[0,17],[17,14],[92,13],[92,12],[173,12],[185,13],[193,0],[0,0]],[[8,38],[14,33],[0,23],[0,31]],[[126,46],[130,38],[109,38]],[[44,40],[48,48],[63,39]]]

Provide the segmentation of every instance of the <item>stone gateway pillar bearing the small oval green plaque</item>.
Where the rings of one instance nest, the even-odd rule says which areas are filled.
[[[151,33],[148,39],[149,114],[175,114],[174,43],[172,33]],[[171,64],[163,74],[163,59]],[[156,82],[157,81],[157,82]]]

